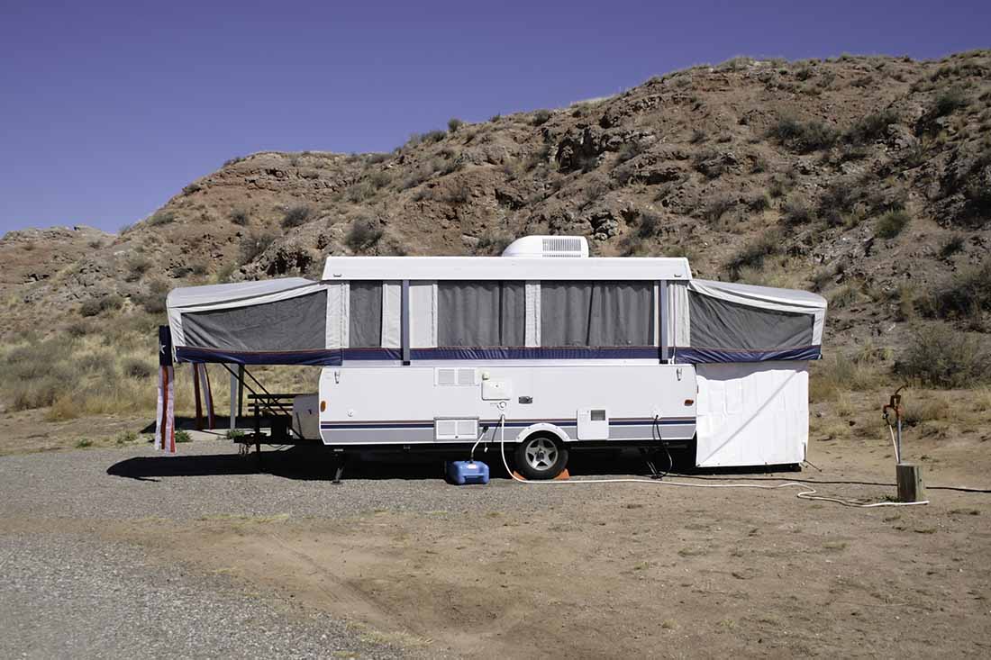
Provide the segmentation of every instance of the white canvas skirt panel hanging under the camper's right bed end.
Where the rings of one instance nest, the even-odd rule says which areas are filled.
[[[699,384],[701,467],[779,465],[805,460],[809,363],[706,364]]]

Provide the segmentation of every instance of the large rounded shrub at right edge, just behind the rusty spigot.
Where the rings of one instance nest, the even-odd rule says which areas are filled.
[[[991,379],[991,357],[977,337],[933,325],[913,334],[895,373],[926,385],[970,387]]]

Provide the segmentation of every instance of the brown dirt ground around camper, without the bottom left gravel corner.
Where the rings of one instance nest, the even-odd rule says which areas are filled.
[[[913,438],[911,455],[929,457],[930,486],[988,488],[985,435]],[[152,458],[143,442],[55,452],[94,462],[64,479],[112,498],[112,514],[66,512],[54,495],[49,508],[38,487],[30,503],[5,496],[0,533],[85,530],[137,544],[151,562],[223,576],[298,616],[330,613],[414,656],[991,654],[987,494],[931,490],[928,506],[850,508],[796,488],[574,483],[642,470],[631,456],[579,459],[568,485],[499,477],[456,488],[434,464],[379,463],[333,486],[307,452],[273,453],[261,475],[249,459],[228,461],[235,452],[221,440],[180,452]],[[810,460],[822,472],[666,481],[800,478],[825,482],[813,485],[821,495],[883,500],[894,494],[890,453],[883,437],[814,428]],[[52,456],[8,456],[0,468]],[[162,488],[170,506],[128,510]]]

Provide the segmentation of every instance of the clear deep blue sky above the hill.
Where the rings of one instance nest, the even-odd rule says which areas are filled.
[[[734,55],[991,47],[989,0],[806,4],[0,0],[0,232],[116,231],[235,156],[389,151]]]

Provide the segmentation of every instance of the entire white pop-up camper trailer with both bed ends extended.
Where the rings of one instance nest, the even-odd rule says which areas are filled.
[[[297,436],[335,450],[694,446],[698,466],[798,464],[826,300],[693,279],[681,258],[589,258],[530,236],[501,257],[330,257],[291,277],[177,288],[177,362],[319,365]]]

